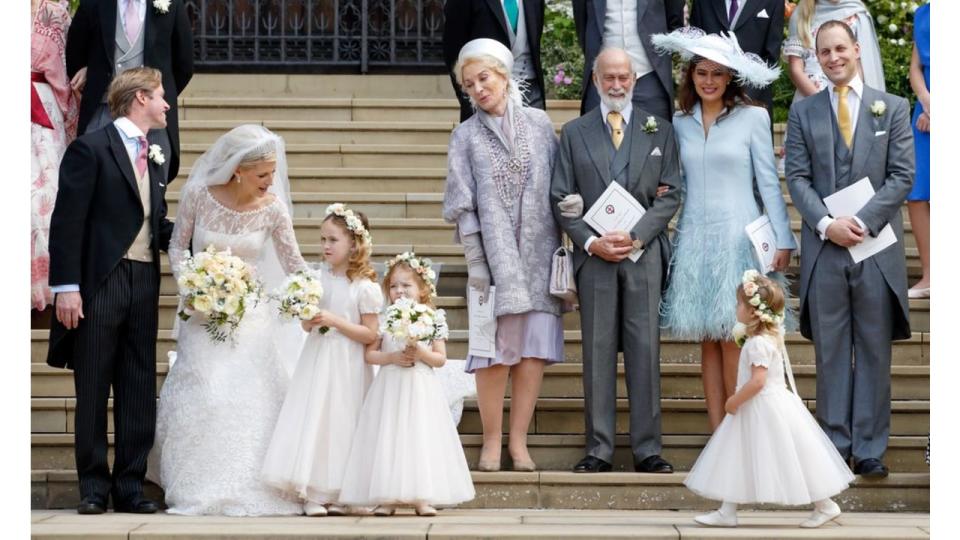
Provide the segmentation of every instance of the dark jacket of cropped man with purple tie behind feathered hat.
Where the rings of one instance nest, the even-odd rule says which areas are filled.
[[[769,17],[758,17],[766,10]],[[694,0],[690,11],[690,26],[700,28],[708,34],[729,32],[727,5],[724,0]],[[780,48],[783,45],[783,0],[747,0],[743,6],[737,24],[733,27],[740,48],[763,58],[771,66],[780,65]],[[770,86],[762,90],[748,89],[748,94],[762,101],[772,118],[773,90]]]

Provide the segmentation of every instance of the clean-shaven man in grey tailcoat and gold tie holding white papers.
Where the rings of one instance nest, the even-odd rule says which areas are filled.
[[[825,92],[795,103],[787,123],[786,176],[803,217],[800,331],[817,363],[817,419],[854,473],[882,478],[890,434],[891,341],[910,338],[901,207],[913,183],[907,101],[863,84],[850,27],[827,21],[817,58]],[[824,198],[867,177],[875,194],[853,216]],[[855,263],[849,247],[887,225],[897,242]]]

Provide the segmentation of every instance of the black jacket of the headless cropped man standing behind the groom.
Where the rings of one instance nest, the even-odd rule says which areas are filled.
[[[80,99],[77,132],[83,133],[113,80],[117,0],[81,0],[67,32],[67,75],[87,68],[87,84]],[[193,34],[183,0],[172,0],[167,13],[159,13],[147,0],[144,16],[143,63],[163,74],[163,92],[170,112],[167,134],[172,156],[167,180],[180,169],[180,128],[177,96],[193,76]]]

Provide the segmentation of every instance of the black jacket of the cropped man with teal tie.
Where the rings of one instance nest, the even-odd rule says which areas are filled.
[[[540,37],[543,35],[544,0],[521,0],[523,17],[529,41],[533,70],[540,88],[543,85],[543,67],[540,64]],[[460,101],[460,121],[473,116],[470,100],[464,97],[453,75],[453,66],[457,63],[460,49],[470,40],[490,38],[510,48],[510,31],[507,18],[503,15],[500,0],[447,0],[443,8],[446,22],[443,26],[443,61],[447,64],[453,90]]]

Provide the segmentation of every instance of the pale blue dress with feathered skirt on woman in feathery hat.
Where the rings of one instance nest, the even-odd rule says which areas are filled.
[[[729,340],[737,322],[737,286],[745,270],[758,266],[744,230],[760,217],[754,176],[777,249],[797,248],[774,165],[770,117],[761,107],[740,105],[704,136],[698,103],[692,114],[678,112],[673,128],[680,146],[683,209],[661,323],[679,338]],[[771,277],[786,285],[782,276]],[[788,317],[788,327],[792,319]]]

